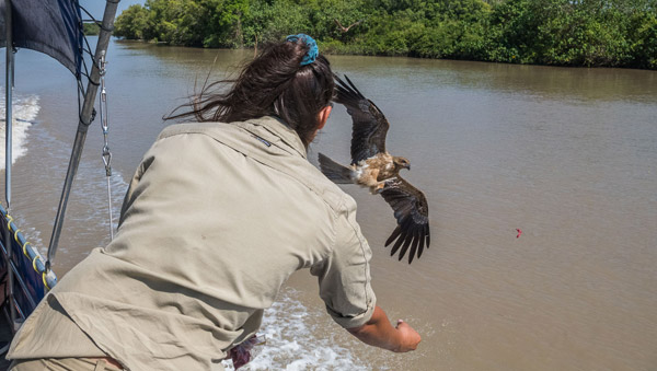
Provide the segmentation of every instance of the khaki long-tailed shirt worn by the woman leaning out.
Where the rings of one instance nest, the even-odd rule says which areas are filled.
[[[364,325],[370,257],[356,202],[278,119],[170,126],[130,182],[114,241],[61,279],[8,358],[105,352],[129,370],[220,370],[298,269],[319,278],[335,322]]]

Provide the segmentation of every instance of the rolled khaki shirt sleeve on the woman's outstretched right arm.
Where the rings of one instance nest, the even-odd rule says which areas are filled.
[[[370,285],[372,253],[356,222],[356,201],[348,196],[335,232],[331,254],[310,271],[319,278],[320,297],[333,320],[344,328],[358,327],[371,318],[377,299]]]

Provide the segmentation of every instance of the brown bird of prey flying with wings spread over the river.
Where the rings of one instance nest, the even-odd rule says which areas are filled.
[[[399,173],[402,169],[411,170],[408,160],[390,154],[385,150],[385,135],[390,124],[381,109],[366,98],[356,89],[351,80],[345,76],[347,83],[335,76],[336,98],[351,116],[351,164],[344,166],[320,153],[322,173],[337,184],[354,183],[369,187],[370,192],[383,196],[394,210],[397,221],[385,246],[395,242],[390,255],[400,251],[401,260],[410,250],[408,264],[416,256],[419,258],[425,245],[428,248],[429,208],[425,195]]]

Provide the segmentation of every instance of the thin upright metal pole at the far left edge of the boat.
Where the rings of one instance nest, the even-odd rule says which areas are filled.
[[[7,68],[5,68],[5,91],[4,91],[4,199],[7,200],[7,216],[11,211],[11,131],[12,131],[12,92],[13,92],[13,34],[12,34],[12,19],[11,19],[11,0],[7,0],[4,9],[4,27],[7,34]],[[7,233],[4,233],[4,248],[7,250],[7,285],[9,285],[9,308],[11,316],[11,329],[15,332],[16,328],[16,308],[14,303],[13,294],[13,281],[14,273],[11,268],[11,232],[9,231],[9,223],[7,225]]]

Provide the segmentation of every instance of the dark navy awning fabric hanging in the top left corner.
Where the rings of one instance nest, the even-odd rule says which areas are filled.
[[[4,14],[0,0],[0,47],[7,44]],[[45,53],[77,78],[82,62],[82,18],[77,0],[11,0],[13,46]]]

